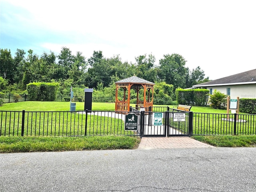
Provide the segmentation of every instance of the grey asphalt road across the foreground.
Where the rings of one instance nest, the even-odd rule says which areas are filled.
[[[255,192],[256,148],[0,154],[0,192]]]

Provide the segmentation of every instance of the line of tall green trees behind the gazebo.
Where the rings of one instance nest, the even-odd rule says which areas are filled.
[[[180,54],[166,54],[156,65],[152,54],[135,57],[135,63],[122,62],[119,55],[104,57],[102,51],[94,51],[86,59],[82,52],[62,47],[60,54],[43,52],[38,56],[33,50],[17,49],[14,56],[7,48],[0,49],[0,92],[26,90],[30,82],[58,82],[62,89],[105,88],[114,82],[133,76],[150,82],[172,84],[176,88],[189,88],[209,81],[198,66],[190,70]]]

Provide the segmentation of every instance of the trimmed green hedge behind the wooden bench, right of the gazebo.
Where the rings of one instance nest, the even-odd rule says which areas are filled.
[[[209,90],[207,89],[182,89],[175,91],[178,104],[190,106],[206,106]]]

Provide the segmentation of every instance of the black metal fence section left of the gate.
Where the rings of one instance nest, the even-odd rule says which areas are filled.
[[[137,112],[140,113],[140,112]],[[127,135],[125,113],[106,111],[0,111],[0,136],[96,136]]]

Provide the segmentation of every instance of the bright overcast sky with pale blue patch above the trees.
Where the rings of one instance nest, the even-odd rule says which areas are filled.
[[[0,0],[0,48],[122,61],[182,55],[210,80],[256,68],[255,0]]]

